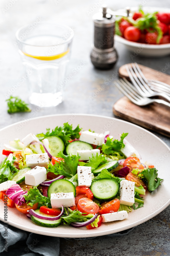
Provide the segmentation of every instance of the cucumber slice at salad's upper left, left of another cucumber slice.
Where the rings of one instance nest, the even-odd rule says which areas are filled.
[[[46,137],[49,141],[49,148],[52,156],[57,156],[60,151],[64,151],[64,142],[57,136]]]

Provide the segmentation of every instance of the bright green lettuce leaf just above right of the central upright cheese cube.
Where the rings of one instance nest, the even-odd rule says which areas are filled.
[[[107,159],[103,154],[92,156],[87,163],[79,162],[81,166],[91,166],[91,171],[94,171],[99,165],[107,163]]]

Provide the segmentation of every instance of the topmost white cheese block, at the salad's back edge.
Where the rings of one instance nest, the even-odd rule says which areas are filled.
[[[105,135],[103,133],[84,131],[81,133],[79,140],[100,146],[104,143],[104,137]]]

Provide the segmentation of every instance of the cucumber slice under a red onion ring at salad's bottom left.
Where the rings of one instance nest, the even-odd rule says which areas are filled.
[[[41,214],[42,216],[51,217],[51,215],[43,214],[40,212],[40,210],[35,210],[35,212]],[[42,220],[31,215],[31,220],[35,224],[47,228],[56,228],[61,225],[61,218],[59,220]]]

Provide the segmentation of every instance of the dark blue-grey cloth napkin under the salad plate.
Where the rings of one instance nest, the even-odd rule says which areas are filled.
[[[6,223],[0,221],[0,255],[1,256],[58,256],[60,252],[60,238],[49,237],[30,233],[10,225],[7,225],[7,237],[5,234]],[[132,229],[106,235],[109,237],[120,237],[127,235]],[[5,238],[7,238],[8,249],[5,251]],[[86,240],[88,238],[65,238]]]

